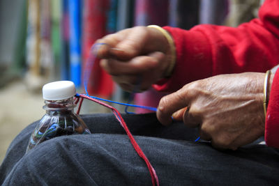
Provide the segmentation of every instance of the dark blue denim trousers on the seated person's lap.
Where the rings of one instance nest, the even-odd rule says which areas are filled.
[[[144,161],[112,114],[82,116],[93,134],[56,137],[24,155],[36,123],[10,144],[0,167],[0,185],[151,185]],[[124,115],[160,185],[279,185],[279,151],[250,144],[216,150],[197,141],[198,132],[155,114]]]

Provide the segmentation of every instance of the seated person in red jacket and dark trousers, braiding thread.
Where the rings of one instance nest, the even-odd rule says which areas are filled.
[[[278,0],[266,0],[259,19],[237,28],[140,26],[98,40],[107,44],[98,48],[100,65],[123,89],[173,92],[160,100],[158,121],[124,118],[160,185],[278,185],[279,72],[263,73],[279,62],[278,9]],[[95,134],[56,137],[24,155],[36,123],[29,125],[10,145],[0,183],[151,185],[112,116],[83,118]],[[268,146],[255,141],[263,135]]]

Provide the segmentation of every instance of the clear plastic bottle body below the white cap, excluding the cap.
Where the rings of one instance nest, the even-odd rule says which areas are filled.
[[[36,145],[63,135],[91,134],[82,118],[73,111],[73,98],[66,100],[45,100],[46,114],[33,130],[27,152]]]

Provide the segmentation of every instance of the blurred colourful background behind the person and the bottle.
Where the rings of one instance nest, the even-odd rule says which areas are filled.
[[[90,70],[90,95],[119,102],[128,100],[130,95],[112,82],[98,61],[88,60],[98,38],[137,25],[182,29],[196,24],[238,26],[257,17],[260,3],[261,0],[1,0],[0,163],[16,135],[45,113],[41,89],[48,82],[70,80],[79,93],[84,93],[83,74]],[[133,102],[156,107],[163,95],[150,89],[136,94]],[[114,106],[123,112],[122,107]],[[109,111],[85,101],[81,114]]]

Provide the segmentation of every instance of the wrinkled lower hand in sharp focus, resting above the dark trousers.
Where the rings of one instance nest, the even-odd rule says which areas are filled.
[[[264,73],[198,80],[162,98],[157,117],[163,125],[183,119],[214,147],[236,150],[264,134],[263,90]]]

